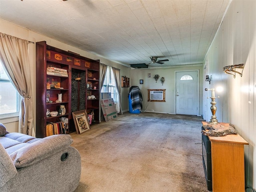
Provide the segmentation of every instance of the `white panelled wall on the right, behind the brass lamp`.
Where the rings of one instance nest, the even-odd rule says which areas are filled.
[[[234,0],[206,56],[208,88],[223,86],[218,94],[216,116],[219,122],[234,124],[249,143],[245,146],[246,184],[256,188],[256,1]],[[224,74],[224,66],[245,64],[242,77]],[[241,69],[237,69],[241,72]],[[210,94],[210,93],[208,93]],[[210,95],[209,95],[210,96]],[[209,121],[210,100],[206,101]]]

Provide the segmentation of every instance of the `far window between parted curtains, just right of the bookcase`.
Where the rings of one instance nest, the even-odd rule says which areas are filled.
[[[109,92],[111,93],[111,97],[113,98],[114,102],[116,103],[118,101],[118,92],[116,91],[116,81],[110,66],[108,66],[107,68],[106,77],[100,92]]]

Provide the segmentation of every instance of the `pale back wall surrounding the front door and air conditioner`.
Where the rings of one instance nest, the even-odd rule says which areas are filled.
[[[176,113],[175,105],[175,71],[180,70],[199,70],[199,115],[203,112],[203,68],[202,65],[186,66],[186,67],[171,67],[171,68],[146,68],[146,69],[132,69],[130,86],[138,86],[142,91],[143,110],[160,113]],[[148,78],[148,73],[151,73],[151,78]],[[154,75],[158,74],[159,80],[156,83]],[[162,85],[160,78],[164,77],[165,82]],[[143,79],[143,84],[140,84],[140,79]],[[166,89],[166,102],[148,102],[148,89]]]

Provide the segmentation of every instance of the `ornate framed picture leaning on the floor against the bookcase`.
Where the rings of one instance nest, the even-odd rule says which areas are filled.
[[[86,110],[80,110],[72,112],[74,123],[76,126],[76,133],[82,134],[87,130],[90,130],[90,124],[88,122],[88,115]]]

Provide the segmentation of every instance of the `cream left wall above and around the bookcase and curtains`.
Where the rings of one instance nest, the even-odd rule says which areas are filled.
[[[54,46],[54,47],[57,47],[57,48],[60,48],[62,50],[66,50],[66,51],[69,50],[69,51],[78,53],[81,56],[85,56],[87,58],[91,58],[94,60],[99,59],[101,63],[104,63],[106,65],[113,66],[115,68],[120,69],[121,76],[127,76],[127,77],[130,76],[130,68],[129,67],[126,67],[122,64],[112,62],[112,61],[102,58],[100,56],[80,50],[76,47],[70,46],[68,44],[64,44],[62,42],[59,42],[57,40],[54,40],[54,39],[44,36],[42,34],[32,32],[31,30],[22,28],[20,26],[14,25],[10,22],[6,22],[5,20],[1,20],[1,19],[0,19],[0,32],[2,32],[4,34],[11,35],[11,36],[15,36],[18,38],[26,39],[31,42],[46,41],[46,43],[50,46]],[[29,58],[30,58],[30,66],[28,66],[28,69],[30,69],[30,72],[31,72],[32,92],[33,92],[32,99],[33,99],[33,103],[34,103],[34,114],[35,114],[35,111],[36,111],[36,107],[35,107],[35,103],[36,103],[36,99],[35,99],[36,98],[36,44],[31,44],[31,43],[29,44]],[[123,96],[123,95],[126,96],[127,94],[128,94],[127,88],[125,88],[125,89],[122,88],[121,89],[122,110],[128,109],[128,100],[126,99],[126,97]],[[35,120],[36,120],[36,116],[34,116],[34,125],[35,125]],[[17,118],[4,119],[4,120],[0,120],[0,122],[2,122],[6,126],[6,128],[9,132],[18,132]]]

